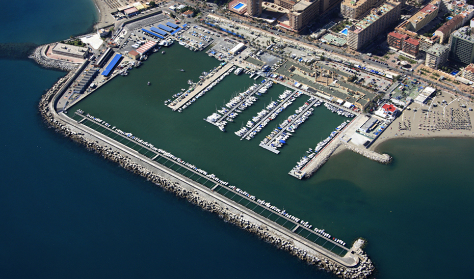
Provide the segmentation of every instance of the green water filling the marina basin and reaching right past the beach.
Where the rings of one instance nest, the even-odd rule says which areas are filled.
[[[218,65],[203,52],[175,44],[166,54],[150,55],[128,76],[115,77],[70,108],[69,116],[82,109],[325,229],[348,246],[357,237],[368,239],[366,252],[376,264],[377,277],[449,277],[453,271],[448,266],[469,266],[473,257],[469,247],[474,244],[470,237],[474,229],[472,139],[386,142],[379,149],[394,157],[390,165],[345,151],[333,156],[313,177],[300,181],[288,171],[346,118],[324,106],[315,108],[277,155],[258,144],[294,114],[306,101],[305,95],[251,141],[240,141],[233,132],[278,99],[285,87],[274,85],[259,96],[226,126],[227,132],[203,118],[261,78],[255,81],[248,75],[230,74],[182,113],[164,105],[181,88],[189,87],[188,79],[197,81],[202,71]],[[181,68],[186,71],[179,71]],[[467,268],[462,270],[454,274],[470,274]]]

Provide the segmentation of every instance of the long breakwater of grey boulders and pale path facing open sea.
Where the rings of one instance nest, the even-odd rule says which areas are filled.
[[[257,235],[259,238],[287,251],[309,265],[332,272],[340,278],[367,278],[373,274],[374,265],[360,248],[354,249],[354,246],[352,248],[355,251],[354,256],[359,258],[359,263],[355,267],[350,268],[343,266],[306,246],[298,238],[283,235],[279,230],[275,229],[278,225],[272,224],[272,226],[267,226],[252,217],[251,214],[247,214],[245,209],[241,210],[237,205],[230,206],[232,204],[231,201],[224,202],[223,199],[225,198],[218,199],[213,196],[215,193],[211,194],[209,190],[193,188],[189,182],[181,180],[179,177],[166,177],[167,175],[160,173],[153,166],[143,162],[140,163],[135,157],[127,156],[127,153],[123,150],[117,149],[114,146],[109,147],[106,143],[99,141],[98,138],[87,133],[85,134],[74,126],[70,126],[61,120],[55,111],[52,111],[53,106],[51,102],[54,101],[55,94],[61,90],[71,74],[72,72],[68,76],[61,78],[40,100],[40,113],[49,127],[84,145],[88,150],[120,164],[124,169],[146,178],[167,191],[173,192],[176,196],[186,199],[206,211],[216,213],[226,222]],[[271,222],[270,220],[268,221]],[[288,231],[287,234],[291,233]]]

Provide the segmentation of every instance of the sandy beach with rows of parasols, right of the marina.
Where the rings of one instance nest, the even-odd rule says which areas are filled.
[[[412,103],[395,119],[370,147],[401,137],[474,137],[474,103],[438,92],[427,104]]]

